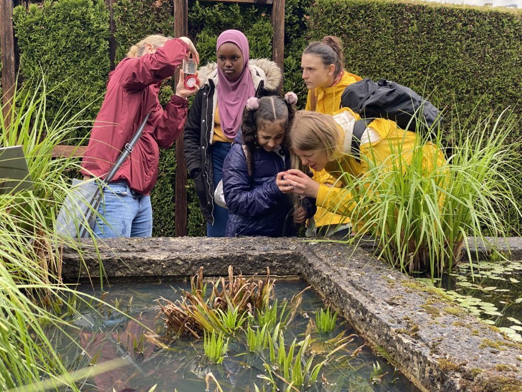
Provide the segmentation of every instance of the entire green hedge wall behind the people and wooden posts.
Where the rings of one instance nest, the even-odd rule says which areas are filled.
[[[215,61],[217,36],[228,28],[245,32],[252,57],[270,56],[270,7],[189,0],[188,9],[189,36],[202,63]],[[114,19],[117,62],[148,34],[172,35],[172,0],[118,0]],[[300,106],[305,101],[301,52],[309,40],[326,34],[342,38],[350,72],[396,80],[431,94],[438,107],[456,102],[461,118],[477,118],[473,108],[479,101],[479,109],[500,111],[514,105],[522,92],[522,13],[517,10],[391,0],[287,0],[285,21],[283,89],[298,93]],[[79,99],[78,107],[103,93],[110,67],[103,0],[17,7],[15,31],[23,76],[39,74],[39,64],[52,81],[71,76],[53,101],[55,107],[67,89]],[[162,87],[163,102],[171,91],[168,84]],[[92,108],[90,118],[96,110]],[[513,137],[519,135],[520,130]],[[152,193],[154,235],[174,235],[174,173],[172,148],[161,154]],[[204,235],[191,184],[188,191],[188,233]]]

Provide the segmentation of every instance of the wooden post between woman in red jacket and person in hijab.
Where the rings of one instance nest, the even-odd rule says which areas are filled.
[[[187,35],[188,4],[187,0],[174,0],[174,37]],[[176,75],[175,80],[179,78]],[[187,235],[187,163],[183,151],[183,132],[176,140],[176,177],[175,177],[175,236]]]

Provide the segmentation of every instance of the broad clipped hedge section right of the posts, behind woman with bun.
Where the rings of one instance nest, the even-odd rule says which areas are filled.
[[[346,67],[431,94],[439,108],[457,104],[468,118],[520,99],[522,13],[502,8],[381,0],[317,0],[310,38],[345,44]],[[449,117],[449,116],[448,116]]]

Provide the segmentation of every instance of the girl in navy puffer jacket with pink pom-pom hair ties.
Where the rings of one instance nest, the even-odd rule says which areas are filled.
[[[293,200],[276,185],[278,172],[290,168],[286,134],[296,101],[294,93],[247,100],[241,135],[223,164],[227,237],[294,236],[297,225],[314,215],[314,199]]]

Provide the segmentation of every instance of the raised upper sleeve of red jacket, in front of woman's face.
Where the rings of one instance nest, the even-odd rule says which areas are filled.
[[[122,86],[128,90],[140,90],[174,75],[188,51],[188,45],[180,39],[168,40],[155,53],[122,60]]]

